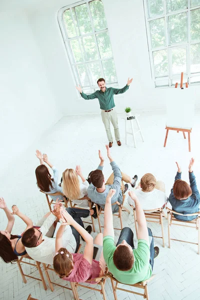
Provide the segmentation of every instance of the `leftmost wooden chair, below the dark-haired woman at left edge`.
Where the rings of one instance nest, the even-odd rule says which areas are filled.
[[[39,261],[36,261],[36,260],[34,260],[34,259],[32,259],[32,260],[35,261],[35,264],[34,264],[34,263],[30,263],[30,262],[26,261],[25,259],[32,259],[32,258],[31,258],[28,254],[25,254],[25,255],[21,255],[20,258],[17,260],[17,265],[18,265],[19,271],[20,271],[20,273],[21,273],[21,277],[22,277],[22,279],[23,279],[23,282],[24,282],[24,283],[27,282],[25,277],[29,277],[29,278],[33,278],[33,279],[39,280],[39,281],[42,282],[43,287],[44,287],[44,289],[46,290],[46,289],[47,289],[47,287],[46,287],[46,282],[45,282],[45,280],[44,280],[43,273],[42,273],[42,271],[41,271],[40,262],[39,262]],[[40,278],[37,278],[37,277],[33,277],[33,276],[30,276],[30,275],[24,274],[23,269],[22,269],[22,267],[21,267],[21,263],[25,263],[25,264],[29,264],[29,265],[34,265],[34,266],[36,266],[36,268],[38,269]]]

